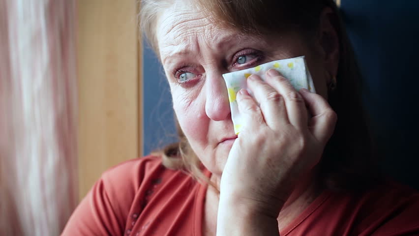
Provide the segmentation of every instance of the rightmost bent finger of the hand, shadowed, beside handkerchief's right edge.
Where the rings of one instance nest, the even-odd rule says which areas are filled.
[[[333,134],[337,115],[329,106],[329,103],[321,95],[311,93],[307,89],[300,89],[300,94],[312,114],[309,129],[314,137],[326,144]]]

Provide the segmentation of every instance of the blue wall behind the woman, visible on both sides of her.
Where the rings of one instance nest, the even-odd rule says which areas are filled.
[[[341,0],[363,77],[380,166],[419,189],[419,1]],[[159,61],[144,47],[144,154],[176,140],[172,100]]]

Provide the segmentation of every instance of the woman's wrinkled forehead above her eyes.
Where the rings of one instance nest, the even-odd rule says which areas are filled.
[[[163,64],[187,54],[200,54],[203,47],[214,50],[259,43],[260,36],[225,28],[210,14],[188,5],[172,6],[161,13],[156,37]]]

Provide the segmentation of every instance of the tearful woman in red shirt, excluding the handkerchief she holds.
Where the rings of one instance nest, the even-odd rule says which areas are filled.
[[[141,8],[180,142],[104,173],[63,235],[419,235],[419,194],[374,166],[359,72],[332,0]],[[276,70],[249,76],[236,135],[222,74],[298,56],[317,93]]]

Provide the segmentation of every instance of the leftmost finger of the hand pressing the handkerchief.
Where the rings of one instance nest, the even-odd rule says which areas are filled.
[[[260,107],[246,89],[239,90],[236,100],[246,129],[257,130],[261,128],[261,126],[266,126]]]

